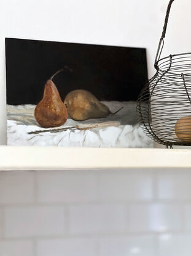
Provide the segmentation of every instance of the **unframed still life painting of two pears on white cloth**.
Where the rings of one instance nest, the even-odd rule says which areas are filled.
[[[146,49],[6,38],[7,144],[152,147],[136,100]]]

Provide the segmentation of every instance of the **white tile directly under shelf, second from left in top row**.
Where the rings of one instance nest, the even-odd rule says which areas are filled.
[[[37,173],[39,202],[93,202],[97,200],[96,176],[80,173]]]

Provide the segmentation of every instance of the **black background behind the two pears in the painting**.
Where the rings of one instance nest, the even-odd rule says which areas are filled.
[[[99,100],[136,101],[147,80],[146,49],[6,38],[7,104],[37,104],[46,80],[62,99],[87,89]]]

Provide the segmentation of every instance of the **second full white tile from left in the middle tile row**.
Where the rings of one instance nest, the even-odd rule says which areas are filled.
[[[95,204],[69,207],[69,233],[100,234],[127,231],[126,205]]]

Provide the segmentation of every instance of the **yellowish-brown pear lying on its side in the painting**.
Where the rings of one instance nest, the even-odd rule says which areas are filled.
[[[77,121],[90,118],[103,118],[111,114],[109,108],[89,91],[77,89],[67,94],[64,99],[69,116]]]

